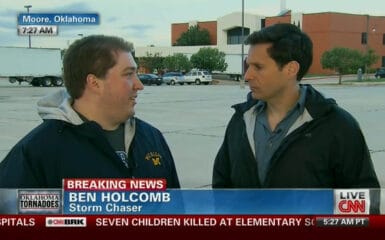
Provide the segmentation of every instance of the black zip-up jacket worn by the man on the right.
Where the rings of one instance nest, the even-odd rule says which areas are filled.
[[[256,100],[234,105],[216,156],[213,188],[379,188],[356,120],[306,85],[305,111],[273,154],[264,184],[258,177],[253,124]]]

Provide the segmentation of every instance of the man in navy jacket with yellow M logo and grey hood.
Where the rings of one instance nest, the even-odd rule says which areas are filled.
[[[63,178],[164,178],[179,188],[161,132],[134,117],[138,91],[133,46],[88,36],[63,59],[61,90],[38,102],[44,122],[0,164],[0,187],[60,188]]]

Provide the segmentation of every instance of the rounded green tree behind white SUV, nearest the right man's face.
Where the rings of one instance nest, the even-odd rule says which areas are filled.
[[[193,54],[190,61],[195,68],[205,69],[210,72],[226,71],[227,63],[225,62],[225,53],[220,52],[216,48],[205,47]]]

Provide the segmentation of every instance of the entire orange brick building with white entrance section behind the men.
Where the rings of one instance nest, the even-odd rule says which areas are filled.
[[[240,45],[240,14],[232,13],[218,18],[218,21],[176,23],[171,25],[171,45],[187,31],[191,24],[198,24],[207,29],[211,37],[211,45],[224,49],[225,45]],[[314,58],[309,73],[331,73],[322,69],[321,56],[334,47],[357,49],[361,52],[373,49],[380,57],[372,68],[385,67],[385,16],[356,15],[347,13],[292,13],[286,11],[280,16],[261,18],[245,15],[245,35],[278,22],[293,23],[299,26],[313,40]],[[249,27],[252,26],[252,27]],[[236,41],[233,41],[236,39]]]

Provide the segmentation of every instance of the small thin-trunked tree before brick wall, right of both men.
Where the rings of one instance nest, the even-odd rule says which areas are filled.
[[[343,74],[355,73],[364,64],[364,56],[358,50],[336,47],[322,54],[321,64],[322,68],[338,72],[341,84]]]

